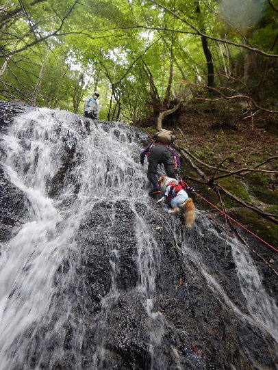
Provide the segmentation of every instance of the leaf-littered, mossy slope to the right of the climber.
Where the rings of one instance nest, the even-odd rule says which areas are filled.
[[[244,122],[236,122],[239,112],[235,111],[232,106],[223,115],[219,113],[218,107],[212,107],[209,104],[207,104],[207,107],[205,104],[203,105],[202,114],[204,111],[206,113],[203,117],[207,118],[206,122],[202,122],[197,111],[193,112],[193,114],[192,111],[186,114],[186,124],[184,124],[184,127],[180,123],[177,126],[182,130],[183,135],[179,133],[179,130],[175,126],[165,127],[166,129],[173,129],[177,136],[177,144],[188,149],[200,161],[217,167],[218,163],[227,158],[225,163],[223,163],[223,168],[234,171],[240,168],[253,168],[258,163],[262,163],[275,155],[276,143],[275,134],[273,134],[272,129],[272,117],[269,118],[269,124],[266,119],[265,127],[257,128],[257,131],[252,131],[251,128],[249,129],[247,127],[244,131]],[[192,118],[189,118],[190,113],[192,114]],[[146,130],[150,135],[154,135],[157,131],[156,127],[148,127]],[[186,176],[190,176],[203,181],[199,174],[180,155],[179,157],[182,163],[181,176],[184,179],[186,179]],[[201,166],[200,163],[197,163],[193,159],[192,161],[207,174],[208,178],[214,174],[214,170]],[[260,169],[277,171],[278,162],[272,160],[266,163],[266,165],[261,166]],[[218,171],[214,176],[219,176],[220,174],[224,174],[224,172]],[[233,194],[233,196],[253,204],[265,213],[277,215],[278,191],[275,180],[273,174],[251,172],[244,176],[228,176],[224,179],[218,179],[215,182]],[[264,217],[251,209],[243,207],[240,203],[231,200],[231,198],[224,194],[220,194],[221,202],[216,191],[208,185],[201,185],[190,180],[186,180],[186,182],[189,186],[194,187],[195,191],[201,194],[203,198],[215,204],[216,207],[223,209],[224,204],[227,213],[243,226],[252,230],[253,233],[271,245],[277,243],[278,226],[274,222],[264,219]],[[197,207],[218,213],[214,207],[197,195],[194,195],[194,202],[197,204]]]

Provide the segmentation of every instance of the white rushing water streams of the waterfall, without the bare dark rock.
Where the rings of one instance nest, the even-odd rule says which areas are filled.
[[[138,137],[135,140],[133,135],[136,135],[136,129],[128,129],[122,124],[91,121],[88,127],[83,118],[49,109],[18,116],[9,133],[3,135],[5,156],[1,159],[1,166],[7,179],[26,198],[28,221],[16,226],[12,239],[1,248],[1,370],[29,370],[39,367],[44,361],[48,361],[45,367],[55,367],[55,361],[63,358],[66,352],[65,327],[69,324],[75,330],[75,346],[68,357],[73,358],[73,367],[82,368],[84,336],[92,323],[84,322],[82,315],[73,315],[75,306],[81,306],[81,313],[86,311],[86,297],[80,291],[75,292],[76,298],[69,298],[67,294],[75,289],[78,261],[84,254],[83,245],[77,242],[77,235],[81,233],[80,228],[86,217],[92,215],[94,220],[94,214],[104,203],[109,207],[101,211],[101,224],[92,224],[90,227],[96,238],[98,233],[105,230],[105,245],[101,248],[105,247],[108,251],[107,265],[110,269],[103,271],[103,274],[110,275],[110,287],[100,298],[101,311],[97,314],[98,321],[92,330],[97,343],[90,353],[91,368],[105,369],[105,356],[109,354],[105,343],[110,336],[110,314],[123,295],[120,286],[121,270],[118,268],[121,261],[121,246],[118,243],[121,238],[116,239],[113,234],[117,229],[118,203],[130,210],[128,221],[134,226],[131,230],[134,230],[136,240],[136,253],[132,259],[136,265],[138,282],[126,294],[140,300],[146,313],[150,369],[166,366],[160,347],[168,323],[157,310],[156,287],[162,267],[162,250],[155,240],[153,226],[148,223],[148,213],[153,212],[154,204],[147,196],[147,168],[142,168],[138,160],[142,148],[136,144]],[[136,208],[138,204],[144,209],[143,214]],[[164,211],[162,207],[160,217],[170,233],[173,230],[171,222],[175,219],[174,216],[170,218],[166,212],[167,217],[164,219]],[[205,217],[203,219],[205,222]],[[197,226],[194,228],[201,238],[210,226],[199,230]],[[201,256],[194,252],[197,242],[193,235],[191,233],[186,236],[182,249],[186,251],[186,259],[198,265]],[[179,236],[176,238],[179,239]],[[240,250],[240,245],[229,242],[238,266],[242,293],[249,302],[251,323],[260,328],[270,328],[274,322],[270,313],[276,312],[275,305],[270,307],[268,313],[262,300],[270,305],[273,301],[267,301],[265,292],[260,297],[260,276],[257,273],[252,275],[255,267],[250,263],[247,253]],[[96,246],[92,244],[93,248]],[[61,277],[58,276],[58,270],[64,261],[67,261],[68,272]],[[236,306],[225,295],[225,288],[216,279],[210,278],[205,262],[201,265],[201,272],[211,289],[217,291],[236,312]],[[58,278],[59,282],[56,281]],[[55,306],[58,294],[62,296],[62,307]],[[251,295],[254,301],[249,300]],[[240,316],[240,311],[236,313]],[[52,332],[47,331],[49,328]],[[52,336],[59,341],[57,347],[51,342]],[[37,337],[40,343],[37,343]],[[36,353],[35,365],[31,356],[28,356],[30,347],[34,345],[38,345],[35,349],[31,348],[31,353]],[[171,352],[175,357],[176,368],[182,368],[175,346],[171,347]]]

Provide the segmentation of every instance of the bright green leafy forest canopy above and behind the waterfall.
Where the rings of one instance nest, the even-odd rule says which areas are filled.
[[[189,97],[278,111],[277,0],[6,0],[0,98],[140,122]]]

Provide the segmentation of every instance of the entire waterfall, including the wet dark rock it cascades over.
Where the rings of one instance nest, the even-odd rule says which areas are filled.
[[[145,138],[49,109],[2,135],[27,221],[1,245],[0,369],[273,369],[277,306],[251,256],[149,198]]]

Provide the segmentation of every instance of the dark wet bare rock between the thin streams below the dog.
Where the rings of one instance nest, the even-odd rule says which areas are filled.
[[[82,253],[77,253],[78,258],[71,259],[71,263],[65,261],[57,272],[59,287],[70,270],[74,274],[67,291],[62,295],[57,292],[53,298],[53,310],[58,313],[62,307],[71,319],[64,321],[56,332],[57,317],[47,329],[36,328],[38,336],[34,337],[28,357],[36,358],[36,354],[43,353],[45,343],[43,347],[35,343],[42,345],[41,334],[48,330],[45,340],[51,352],[56,354],[63,348],[55,362],[50,352],[49,360],[45,358],[40,363],[40,367],[49,369],[66,366],[66,369],[225,370],[233,365],[236,369],[251,370],[254,363],[258,369],[273,369],[275,341],[266,332],[239,320],[223,298],[212,293],[197,265],[189,257],[184,259],[156,204],[153,208],[148,222],[159,246],[160,269],[155,279],[156,298],[151,315],[147,314],[138,290],[134,212],[128,202],[103,201],[80,225],[76,242]],[[109,217],[112,209],[116,211],[116,220]],[[146,209],[137,204],[136,211],[144,213]],[[168,222],[175,227],[171,216]],[[198,241],[198,235],[196,230],[186,230],[185,238]],[[224,282],[231,302],[248,314],[229,250],[229,257],[222,263],[217,254],[223,245],[216,234],[207,233],[205,241],[199,243],[210,246],[202,250],[207,266]],[[64,293],[70,301],[66,306]],[[71,310],[66,311],[66,307]],[[78,362],[73,354],[80,340]],[[92,354],[96,353],[94,358]]]

